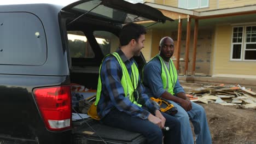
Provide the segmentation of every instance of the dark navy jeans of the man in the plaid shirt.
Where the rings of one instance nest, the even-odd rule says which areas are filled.
[[[181,125],[178,119],[166,113],[162,113],[162,115],[166,118],[165,127],[170,128],[170,130],[164,131],[164,143],[181,143]],[[101,119],[101,122],[110,127],[140,133],[146,137],[147,143],[162,144],[162,130],[156,124],[148,121],[148,119],[131,117],[125,112],[113,109]]]

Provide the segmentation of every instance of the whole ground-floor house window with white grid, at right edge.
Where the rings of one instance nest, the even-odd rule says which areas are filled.
[[[256,26],[233,27],[231,60],[256,60]]]

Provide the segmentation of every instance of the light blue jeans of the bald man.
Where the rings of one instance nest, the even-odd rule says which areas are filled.
[[[206,113],[201,105],[191,101],[192,109],[187,112],[179,104],[171,100],[169,101],[178,109],[178,113],[176,113],[175,117],[179,119],[179,122],[181,122],[181,140],[183,144],[194,143],[189,118],[194,125],[196,144],[212,143]]]

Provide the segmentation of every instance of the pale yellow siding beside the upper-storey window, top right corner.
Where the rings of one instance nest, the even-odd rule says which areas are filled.
[[[219,9],[256,4],[255,0],[219,0]]]

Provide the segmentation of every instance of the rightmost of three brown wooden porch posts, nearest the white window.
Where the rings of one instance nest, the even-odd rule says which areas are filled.
[[[192,74],[193,74],[193,76],[195,76],[196,48],[197,48],[197,33],[198,33],[198,20],[195,19],[195,27],[194,27],[194,45],[193,45],[193,64],[192,64]]]

